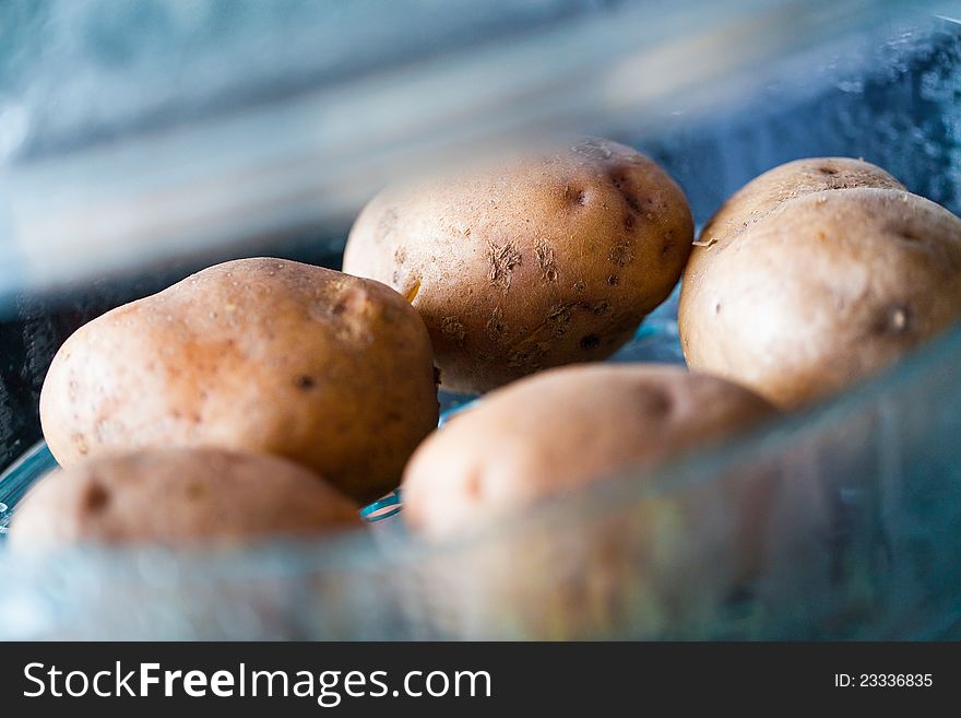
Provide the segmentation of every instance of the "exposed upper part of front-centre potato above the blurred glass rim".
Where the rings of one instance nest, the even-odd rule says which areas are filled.
[[[773,413],[747,389],[675,366],[553,369],[493,392],[424,442],[404,471],[402,515],[428,535],[462,531]]]

